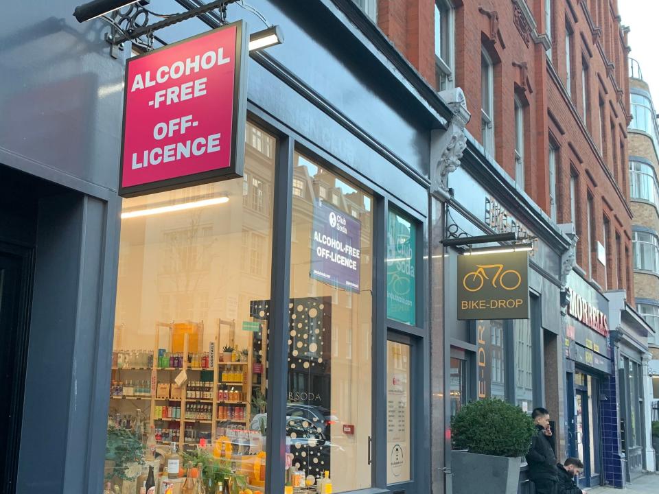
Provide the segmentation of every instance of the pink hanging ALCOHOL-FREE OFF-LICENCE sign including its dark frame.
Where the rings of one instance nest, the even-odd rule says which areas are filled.
[[[120,196],[242,176],[246,32],[239,21],[126,62]]]

